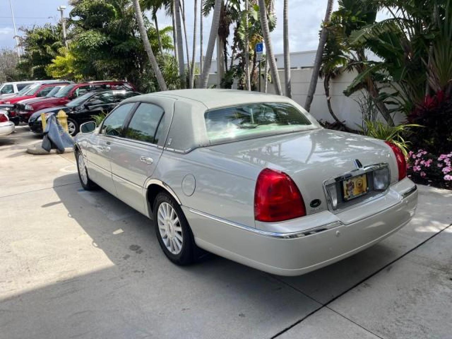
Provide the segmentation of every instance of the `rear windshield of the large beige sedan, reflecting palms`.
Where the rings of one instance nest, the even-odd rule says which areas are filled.
[[[285,103],[246,104],[217,108],[204,114],[209,140],[235,140],[296,131],[311,122]]]

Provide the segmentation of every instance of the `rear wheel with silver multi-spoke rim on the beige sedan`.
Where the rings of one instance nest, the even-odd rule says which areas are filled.
[[[182,208],[170,194],[161,192],[154,200],[155,234],[166,257],[177,265],[194,261],[196,245]]]

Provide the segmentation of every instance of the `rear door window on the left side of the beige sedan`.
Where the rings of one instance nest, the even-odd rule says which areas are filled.
[[[130,120],[125,137],[152,144],[158,143],[160,135],[157,130],[163,113],[159,106],[140,104]]]

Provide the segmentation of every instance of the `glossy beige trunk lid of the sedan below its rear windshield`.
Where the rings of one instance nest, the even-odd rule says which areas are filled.
[[[346,132],[317,129],[208,148],[251,163],[259,171],[270,168],[287,173],[300,189],[308,214],[328,209],[324,181],[355,170],[355,159],[363,166],[388,163],[391,183],[397,180],[397,165],[389,146],[381,140]],[[320,206],[310,207],[315,199],[321,201]]]

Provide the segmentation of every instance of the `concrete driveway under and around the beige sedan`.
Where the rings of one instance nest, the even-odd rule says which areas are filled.
[[[178,267],[152,221],[82,189],[73,155],[0,139],[0,338],[452,338],[452,192],[408,226],[301,277],[217,256]]]

